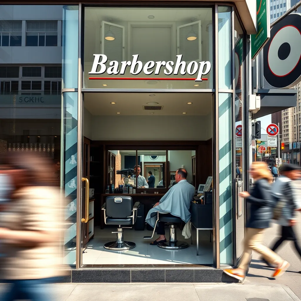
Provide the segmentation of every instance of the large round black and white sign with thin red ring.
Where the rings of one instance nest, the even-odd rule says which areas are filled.
[[[301,79],[301,15],[290,14],[274,25],[263,48],[263,72],[275,88],[291,88]]]

